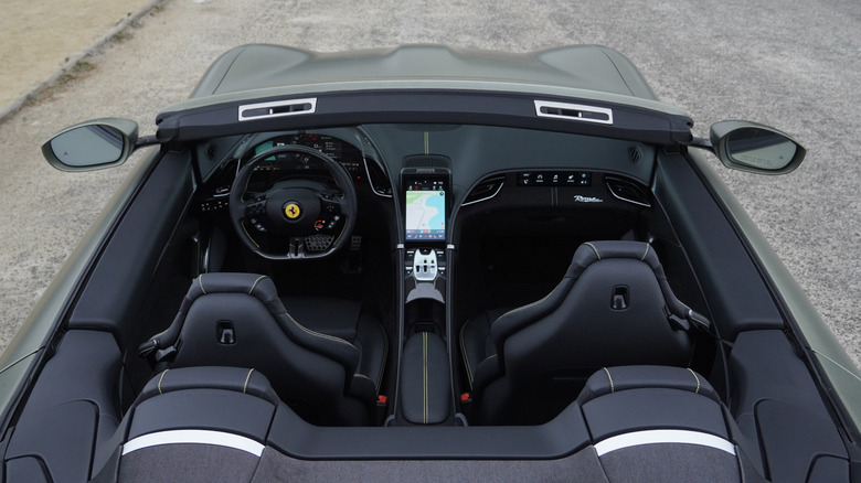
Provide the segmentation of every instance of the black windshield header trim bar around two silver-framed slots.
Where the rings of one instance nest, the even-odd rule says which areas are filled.
[[[364,124],[455,124],[539,129],[576,135],[627,139],[651,144],[689,144],[693,121],[640,107],[597,103],[553,96],[472,90],[376,90],[316,93],[304,97],[318,99],[316,110],[302,116],[266,117],[237,122],[241,105],[224,103],[176,112],[162,112],[157,119],[161,142],[193,141],[249,131],[327,128]],[[255,103],[288,101],[261,98]],[[535,101],[588,103],[613,109],[613,125],[570,122],[539,117]]]

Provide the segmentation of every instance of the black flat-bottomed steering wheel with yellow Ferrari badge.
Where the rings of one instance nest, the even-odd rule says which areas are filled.
[[[254,169],[278,153],[300,153],[322,161],[337,189],[294,179],[276,182],[266,192],[244,200]],[[230,196],[233,229],[248,249],[270,260],[334,254],[350,238],[355,213],[355,189],[347,170],[322,152],[298,144],[277,146],[252,158],[236,174]]]

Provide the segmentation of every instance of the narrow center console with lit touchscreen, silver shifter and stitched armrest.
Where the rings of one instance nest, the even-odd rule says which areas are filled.
[[[404,318],[395,422],[454,425],[446,325],[450,160],[416,157],[401,172]],[[418,161],[418,162],[415,162]],[[411,165],[421,164],[421,165]]]

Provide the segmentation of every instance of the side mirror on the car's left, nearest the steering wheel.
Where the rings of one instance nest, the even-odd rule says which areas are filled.
[[[42,154],[61,171],[91,171],[123,164],[135,150],[138,124],[94,119],[60,131],[42,144]]]

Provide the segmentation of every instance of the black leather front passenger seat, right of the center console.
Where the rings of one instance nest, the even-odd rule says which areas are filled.
[[[691,324],[708,321],[673,296],[648,244],[584,244],[550,294],[480,313],[461,328],[474,419],[545,422],[603,366],[687,367]]]

